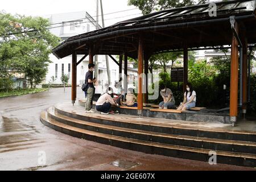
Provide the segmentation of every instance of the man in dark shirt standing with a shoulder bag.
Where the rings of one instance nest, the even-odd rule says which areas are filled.
[[[87,94],[86,94],[86,103],[85,103],[85,112],[86,113],[95,113],[92,111],[93,96],[95,92],[94,83],[96,78],[93,78],[93,71],[95,69],[94,64],[88,65],[89,71],[85,75],[85,84],[88,84]]]

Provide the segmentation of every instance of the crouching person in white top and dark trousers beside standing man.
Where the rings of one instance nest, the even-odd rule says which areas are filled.
[[[96,110],[100,111],[101,114],[115,114],[114,111],[111,110],[111,106],[118,106],[112,98],[112,88],[109,88],[108,93],[104,93],[101,95],[100,98],[98,98],[98,101],[96,103]]]

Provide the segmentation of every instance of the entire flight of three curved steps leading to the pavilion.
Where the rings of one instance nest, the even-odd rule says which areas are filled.
[[[256,167],[256,133],[200,129],[127,119],[125,115],[81,114],[60,107],[42,111],[41,121],[77,138],[149,154]]]

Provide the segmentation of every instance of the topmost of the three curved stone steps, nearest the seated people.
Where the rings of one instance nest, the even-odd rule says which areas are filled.
[[[250,131],[232,131],[232,130],[221,130],[221,129],[206,129],[204,127],[193,127],[193,126],[180,126],[172,125],[168,123],[168,119],[162,119],[166,123],[159,122],[160,119],[146,118],[148,121],[143,121],[131,115],[101,115],[101,114],[86,114],[76,110],[75,112],[69,111],[68,109],[59,107],[58,105],[54,108],[57,113],[65,115],[70,118],[80,119],[82,121],[88,121],[103,125],[124,127],[135,130],[153,131],[157,133],[166,133],[174,135],[185,135],[191,137],[203,137],[203,138],[216,138],[226,140],[238,140],[245,142],[256,142],[256,133]]]

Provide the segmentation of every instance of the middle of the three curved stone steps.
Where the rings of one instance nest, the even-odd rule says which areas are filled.
[[[85,130],[96,131],[98,133],[145,140],[149,142],[175,144],[177,146],[187,146],[205,148],[209,150],[256,154],[256,143],[254,142],[241,142],[236,140],[213,139],[202,137],[188,137],[184,135],[164,134],[152,131],[126,129],[123,127],[102,125],[98,123],[81,121],[79,119],[70,118],[65,115],[58,114],[54,111],[54,109],[52,109],[52,107],[50,107],[47,111],[48,117],[55,119],[55,121]]]

